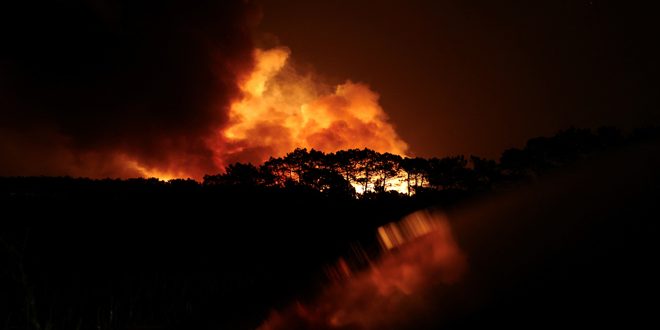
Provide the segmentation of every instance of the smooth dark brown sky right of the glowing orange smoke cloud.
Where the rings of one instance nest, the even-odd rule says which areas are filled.
[[[651,2],[262,2],[261,32],[328,79],[370,84],[421,156],[660,123]]]

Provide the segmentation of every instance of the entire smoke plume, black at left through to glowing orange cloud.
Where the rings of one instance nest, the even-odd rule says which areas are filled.
[[[378,94],[255,49],[247,1],[14,4],[1,21],[0,175],[193,177],[297,147],[405,154]]]

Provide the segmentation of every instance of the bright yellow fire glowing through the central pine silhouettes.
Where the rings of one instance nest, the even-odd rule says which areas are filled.
[[[483,167],[484,161],[472,157],[471,162]],[[205,176],[204,184],[278,188],[297,185],[337,196],[385,191],[412,195],[420,189],[467,189],[480,184],[483,180],[467,165],[463,156],[424,159],[366,148],[334,153],[298,148],[284,157],[271,157],[259,166],[231,164],[225,173]]]

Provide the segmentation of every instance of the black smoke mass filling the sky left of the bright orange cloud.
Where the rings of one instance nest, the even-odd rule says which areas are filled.
[[[122,159],[217,171],[208,139],[252,66],[249,3],[2,7],[0,175],[136,175]]]

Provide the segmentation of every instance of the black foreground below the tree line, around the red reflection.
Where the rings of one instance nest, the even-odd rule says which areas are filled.
[[[324,266],[352,243],[375,251],[378,226],[437,205],[467,271],[378,329],[651,327],[659,168],[657,143],[627,146],[451,207],[442,194],[5,179],[0,327],[256,328],[296,300],[313,306]],[[289,329],[321,328],[295,318]]]

